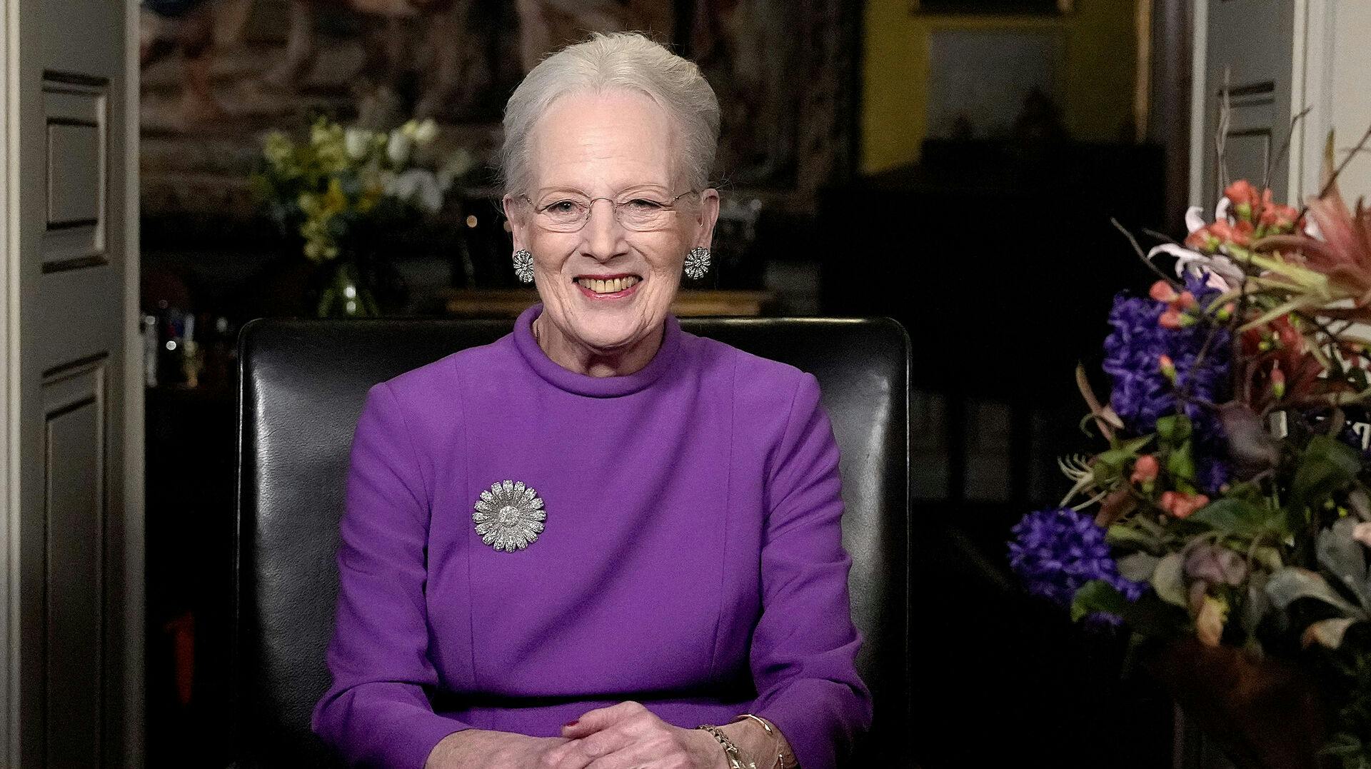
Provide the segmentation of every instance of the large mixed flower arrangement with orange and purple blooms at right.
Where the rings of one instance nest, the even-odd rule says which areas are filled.
[[[1115,297],[1108,399],[1078,369],[1108,447],[1060,461],[1071,489],[1013,528],[1009,562],[1153,648],[1294,665],[1324,764],[1352,769],[1371,766],[1371,210],[1333,155],[1305,210],[1235,181],[1183,243],[1139,249],[1158,280]]]

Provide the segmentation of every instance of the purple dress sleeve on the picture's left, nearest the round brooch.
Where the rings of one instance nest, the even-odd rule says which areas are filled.
[[[433,713],[425,543],[429,495],[399,403],[367,393],[352,439],[340,526],[339,600],[328,650],[333,685],[313,728],[350,765],[421,769],[466,724]]]

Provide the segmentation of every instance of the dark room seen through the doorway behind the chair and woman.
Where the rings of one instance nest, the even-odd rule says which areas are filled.
[[[432,155],[459,173],[440,211],[366,247],[380,310],[510,318],[532,291],[495,206],[500,110],[583,29],[651,30],[725,108],[720,269],[680,314],[890,315],[909,332],[919,761],[1169,762],[1171,702],[1124,676],[1123,636],[1024,598],[1005,541],[1060,495],[1056,458],[1087,443],[1075,365],[1098,359],[1112,292],[1146,277],[1111,218],[1178,226],[1185,3],[457,0],[396,19],[387,1],[404,5],[144,11],[149,765],[208,765],[222,744],[236,333],[315,314],[332,280],[255,193],[266,133],[433,118]]]

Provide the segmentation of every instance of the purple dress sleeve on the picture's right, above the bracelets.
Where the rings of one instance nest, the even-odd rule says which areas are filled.
[[[856,669],[861,637],[847,598],[838,443],[810,374],[775,447],[765,502],[754,710],[780,728],[802,769],[834,769],[871,727],[872,706]]]

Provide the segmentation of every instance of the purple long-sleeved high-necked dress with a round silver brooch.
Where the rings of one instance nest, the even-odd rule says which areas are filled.
[[[679,727],[755,713],[832,769],[872,714],[818,382],[672,317],[642,370],[576,374],[540,311],[367,393],[314,731],[420,769],[465,728],[555,736],[632,699]],[[477,533],[483,491],[514,543]]]

